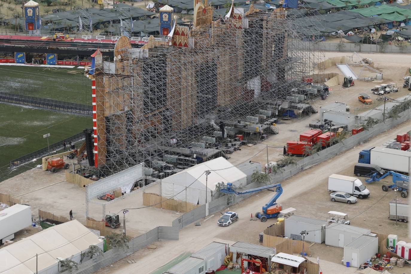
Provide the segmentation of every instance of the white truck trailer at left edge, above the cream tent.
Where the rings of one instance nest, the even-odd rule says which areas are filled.
[[[31,208],[16,204],[0,211],[0,244],[14,239],[14,233],[31,226]]]

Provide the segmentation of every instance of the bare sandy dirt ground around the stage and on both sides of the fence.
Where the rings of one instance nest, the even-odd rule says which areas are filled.
[[[352,53],[325,53],[326,58],[351,55]],[[409,58],[404,58],[400,54],[362,54],[365,58],[372,58],[375,67],[378,67],[384,73],[385,82],[396,82],[399,92],[391,93],[391,98],[395,99],[404,94],[408,94],[408,90],[402,89],[403,76],[407,68],[410,67]],[[339,72],[336,68],[330,68],[326,72]],[[341,74],[342,75],[342,74]],[[343,78],[343,77],[342,77]],[[365,111],[375,107],[374,103],[371,106],[364,106],[357,100],[358,93],[370,92],[370,89],[377,85],[374,82],[356,81],[354,87],[341,89],[339,86],[332,87],[330,96],[322,101],[315,101],[316,107],[331,104],[334,101],[347,103],[351,109]],[[371,95],[371,94],[370,94]],[[374,99],[375,96],[372,96]],[[279,134],[272,135],[267,140],[267,144],[284,144],[287,140],[297,140],[300,132],[308,130],[308,124],[311,121],[318,119],[318,113],[311,117],[303,117],[294,120],[280,120],[278,122]],[[397,234],[401,239],[410,242],[410,238],[406,238],[407,227],[404,223],[399,223],[395,227],[394,221],[388,221],[386,215],[387,201],[393,198],[393,192],[383,192],[381,190],[382,182],[374,182],[368,184],[371,197],[365,200],[360,200],[355,205],[347,205],[343,203],[332,203],[329,200],[329,193],[326,190],[326,178],[330,173],[339,173],[343,175],[352,175],[354,163],[358,159],[358,151],[370,146],[379,146],[387,140],[393,139],[395,134],[408,131],[411,128],[411,121],[404,122],[379,136],[372,138],[369,143],[365,143],[349,151],[346,151],[324,163],[314,166],[302,173],[299,173],[288,180],[282,182],[284,193],[279,199],[284,207],[294,207],[297,209],[296,214],[311,216],[318,219],[325,219],[329,210],[342,211],[349,214],[350,217],[356,216],[352,220],[352,225],[370,228],[372,231],[380,233]],[[282,157],[282,147],[268,147],[268,161],[276,161]],[[263,165],[267,162],[266,144],[258,144],[252,147],[243,146],[241,151],[231,154],[229,161],[233,164],[238,164],[243,161],[259,161]],[[13,196],[20,195],[29,191],[18,198],[22,199],[22,203],[27,203],[32,206],[33,217],[38,218],[37,210],[42,209],[52,212],[56,215],[68,217],[70,209],[73,210],[74,218],[82,223],[85,223],[85,194],[84,189],[63,181],[65,178],[64,172],[59,170],[57,173],[44,172],[40,168],[28,170],[25,173],[17,175],[9,180],[0,183],[1,193],[11,193]],[[62,182],[60,182],[62,181]],[[57,184],[54,184],[57,183]],[[40,189],[41,188],[41,189]],[[36,190],[38,189],[38,190]],[[385,195],[385,196],[384,196]],[[136,251],[129,258],[138,261],[139,273],[149,273],[153,269],[168,262],[184,252],[195,252],[209,242],[219,241],[233,244],[237,241],[258,243],[258,234],[261,233],[268,225],[274,222],[269,220],[266,223],[260,221],[248,221],[251,213],[255,213],[261,206],[266,203],[272,196],[271,192],[262,192],[254,195],[242,202],[236,204],[230,210],[234,210],[240,214],[240,221],[230,227],[217,227],[216,221],[218,215],[215,214],[207,221],[201,220],[201,226],[194,224],[180,230],[180,240],[159,241],[156,242],[157,249],[141,249]],[[381,199],[381,200],[379,200]],[[135,194],[129,198],[118,200],[107,206],[106,212],[119,212],[122,208],[139,207],[141,205],[141,196]],[[375,205],[374,205],[375,203]],[[102,216],[102,209],[99,206],[90,206],[90,216],[99,219]],[[158,208],[145,208],[141,210],[130,211],[127,213],[127,235],[137,236],[141,233],[155,228],[156,226],[171,226],[171,222],[178,217],[176,212]],[[365,219],[365,221],[364,221]],[[120,216],[122,222],[122,216]],[[30,231],[35,232],[34,229]],[[23,236],[22,237],[27,237]],[[195,244],[193,244],[195,243]],[[316,245],[313,246],[316,248]],[[327,248],[328,249],[328,248]],[[333,256],[334,253],[321,252],[319,249],[315,251],[321,256],[321,268],[325,268],[323,273],[335,272],[332,268],[334,263],[339,263],[341,256]],[[159,260],[159,258],[162,258]],[[328,262],[330,261],[330,262]],[[324,265],[324,266],[323,266]],[[326,269],[329,266],[329,271]],[[97,273],[135,273],[134,264],[129,265],[126,261],[120,260],[112,266],[105,267]],[[336,267],[342,267],[336,264]],[[333,269],[333,270],[331,270]],[[340,268],[339,273],[353,273],[350,269]]]

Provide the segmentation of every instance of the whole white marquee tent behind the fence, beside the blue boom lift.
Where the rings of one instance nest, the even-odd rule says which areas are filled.
[[[211,171],[208,182],[205,181],[205,170]],[[161,194],[164,198],[173,197],[175,200],[204,205],[206,185],[207,200],[210,202],[211,191],[215,193],[215,185],[221,182],[230,182],[234,187],[245,186],[247,175],[223,157],[219,157],[162,179]]]

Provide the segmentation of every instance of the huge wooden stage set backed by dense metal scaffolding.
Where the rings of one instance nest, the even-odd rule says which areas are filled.
[[[213,18],[200,1],[194,25],[174,24],[169,41],[150,37],[137,49],[121,37],[115,70],[96,62],[93,71],[96,167],[153,167],[165,155],[213,159],[224,156],[225,136],[275,133],[279,106],[318,75],[323,54],[286,13],[232,6]]]

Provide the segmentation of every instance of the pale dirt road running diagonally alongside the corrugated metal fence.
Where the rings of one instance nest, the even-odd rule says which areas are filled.
[[[330,173],[344,174],[343,172],[346,170],[346,167],[352,166],[353,161],[358,159],[359,150],[379,146],[385,143],[386,140],[392,139],[396,134],[409,130],[410,128],[411,120],[406,121],[397,127],[390,129],[389,131],[379,134],[378,136],[370,139],[367,143],[347,150],[336,157],[333,157],[319,165],[305,170],[304,172],[294,175],[288,180],[281,182],[284,191],[279,199],[279,202],[283,205],[295,203],[296,200],[294,200],[294,198],[296,196],[310,191],[310,189],[311,191],[315,191],[315,188],[319,187],[319,185],[323,182],[322,180],[319,180],[319,174],[326,176]],[[237,241],[257,243],[258,234],[261,233],[273,221],[269,220],[266,223],[261,223],[260,221],[249,221],[249,216],[258,211],[271,197],[272,192],[270,191],[259,192],[259,194],[251,196],[248,199],[243,200],[241,203],[236,204],[234,207],[231,207],[230,210],[236,211],[240,216],[240,220],[233,223],[232,226],[218,227],[216,222],[219,215],[215,214],[215,216],[207,221],[201,220],[201,226],[194,226],[193,223],[192,225],[180,230],[180,240],[178,242],[157,242],[155,243],[157,245],[157,249],[141,249],[125,259],[135,259],[137,261],[136,265],[139,266],[139,273],[150,273],[152,270],[160,267],[169,260],[172,260],[181,253],[195,252],[212,241],[225,242],[229,244],[233,244]],[[298,201],[298,203],[302,205],[307,204],[307,212],[309,212],[309,199]],[[316,214],[317,218],[320,218],[321,215],[326,214],[326,212],[330,210],[329,205],[330,203],[328,203],[328,200],[324,201],[323,210],[321,210],[321,212],[309,212],[309,215]],[[364,212],[364,214],[369,214],[371,212],[372,209],[370,209],[369,212]],[[296,213],[307,215],[301,211]],[[395,231],[391,231],[393,234],[397,234]],[[125,259],[116,262],[112,266],[104,267],[96,273],[135,273],[136,265],[125,263]],[[327,261],[321,261],[321,267],[324,269],[324,273],[332,273],[332,271],[336,273],[354,273],[355,270],[353,268],[346,269],[342,265]],[[329,269],[329,271],[325,271],[326,269]]]

